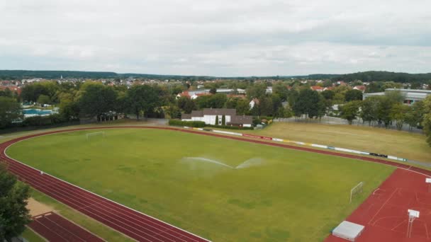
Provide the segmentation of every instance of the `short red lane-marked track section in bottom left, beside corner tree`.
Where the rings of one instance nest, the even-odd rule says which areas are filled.
[[[102,238],[82,229],[82,227],[61,217],[55,212],[47,212],[33,217],[33,221],[28,224],[28,226],[48,241],[103,241]]]

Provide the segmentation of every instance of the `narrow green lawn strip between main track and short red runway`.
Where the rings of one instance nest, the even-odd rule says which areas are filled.
[[[55,212],[61,214],[63,217],[73,221],[75,224],[82,226],[84,229],[91,231],[93,234],[100,236],[106,241],[133,241],[132,239],[124,236],[118,231],[114,231],[113,229],[101,224],[99,221],[96,221],[81,212],[78,212],[71,207],[54,200],[52,197],[45,195],[38,190],[31,190],[31,196],[41,202],[43,204],[47,204],[48,206],[55,209]]]

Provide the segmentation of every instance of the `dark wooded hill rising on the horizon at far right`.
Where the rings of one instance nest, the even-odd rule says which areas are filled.
[[[403,72],[389,71],[364,71],[353,74],[335,76],[333,81],[394,81],[394,82],[423,82],[431,81],[431,73],[427,74],[408,74]]]

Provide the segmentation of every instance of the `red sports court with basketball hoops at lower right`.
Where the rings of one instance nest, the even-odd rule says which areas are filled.
[[[396,169],[347,217],[347,221],[365,226],[356,241],[430,242],[431,192],[425,183],[425,178],[427,175]],[[410,238],[407,238],[407,209],[420,212],[420,217],[413,221]],[[328,236],[325,242],[345,242],[345,240]]]

